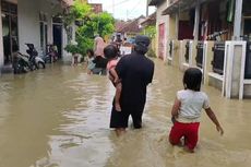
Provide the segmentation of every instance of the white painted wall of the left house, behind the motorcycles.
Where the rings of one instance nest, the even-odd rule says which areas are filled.
[[[40,51],[40,12],[47,14],[48,43],[52,44],[52,16],[61,12],[60,3],[52,5],[52,3],[45,0],[36,2],[34,0],[19,0],[17,9],[20,51],[25,52],[25,43],[34,44],[36,49]],[[64,37],[65,35],[63,35],[63,38]],[[63,40],[63,47],[65,44]]]

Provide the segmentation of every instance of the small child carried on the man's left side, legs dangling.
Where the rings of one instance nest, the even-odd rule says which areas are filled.
[[[109,72],[109,80],[112,82],[112,84],[116,87],[116,94],[115,94],[115,109],[116,111],[121,111],[120,107],[120,95],[122,90],[121,81],[119,80],[119,76],[116,72],[116,65],[119,62],[118,58],[118,49],[113,45],[108,45],[104,49],[105,58],[108,60],[107,63],[107,70]]]

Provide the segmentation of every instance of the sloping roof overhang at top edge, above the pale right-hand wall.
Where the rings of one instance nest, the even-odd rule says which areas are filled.
[[[189,10],[191,8],[194,8],[195,3],[196,0],[174,0],[174,2],[163,11],[163,15]]]

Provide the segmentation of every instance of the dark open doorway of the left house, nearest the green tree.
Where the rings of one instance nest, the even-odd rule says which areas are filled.
[[[53,25],[53,45],[57,46],[59,58],[62,58],[62,25]]]

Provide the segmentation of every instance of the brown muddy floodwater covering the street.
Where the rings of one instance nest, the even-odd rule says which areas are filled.
[[[194,154],[167,142],[182,73],[156,60],[142,130],[117,138],[109,117],[115,88],[83,67],[55,65],[0,77],[0,167],[250,167],[251,100],[208,86],[224,136],[203,115]]]

